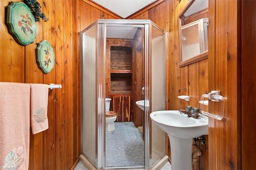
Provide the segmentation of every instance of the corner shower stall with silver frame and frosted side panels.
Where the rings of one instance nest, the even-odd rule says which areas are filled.
[[[168,160],[166,134],[150,120],[151,112],[166,109],[166,32],[150,20],[97,20],[80,37],[82,162],[86,160],[96,169],[152,169]],[[133,148],[135,142],[113,146],[108,153],[106,135],[114,134],[118,127],[105,130],[105,98],[112,98],[110,109],[116,111],[117,123],[130,122],[135,130],[142,127],[141,150]],[[136,106],[138,100],[144,100],[144,109]],[[112,141],[121,140],[122,133],[119,135]],[[122,149],[124,154],[137,150],[143,161],[122,163],[121,156],[135,157],[114,151]],[[110,164],[109,159],[117,163]]]

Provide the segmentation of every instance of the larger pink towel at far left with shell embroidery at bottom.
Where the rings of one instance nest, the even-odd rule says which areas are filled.
[[[0,169],[28,169],[30,85],[0,82]]]

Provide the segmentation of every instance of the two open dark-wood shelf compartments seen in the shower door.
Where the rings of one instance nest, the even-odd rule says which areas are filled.
[[[110,47],[110,93],[132,94],[132,47]]]

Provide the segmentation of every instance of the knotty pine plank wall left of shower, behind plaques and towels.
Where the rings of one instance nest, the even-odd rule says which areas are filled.
[[[5,12],[10,1],[0,1],[0,81],[62,84],[62,89],[49,90],[49,129],[36,135],[30,131],[29,169],[69,170],[81,154],[79,33],[97,19],[120,17],[87,0],[37,1],[49,21],[36,23],[36,39],[27,46],[18,45],[8,33]],[[56,57],[48,74],[36,64],[35,49],[42,40],[50,42]]]

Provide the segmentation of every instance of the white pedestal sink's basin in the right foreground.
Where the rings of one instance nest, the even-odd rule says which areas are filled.
[[[152,112],[150,118],[162,131],[174,137],[192,139],[208,135],[208,117],[202,114],[200,119],[194,119],[178,110],[167,110]]]

